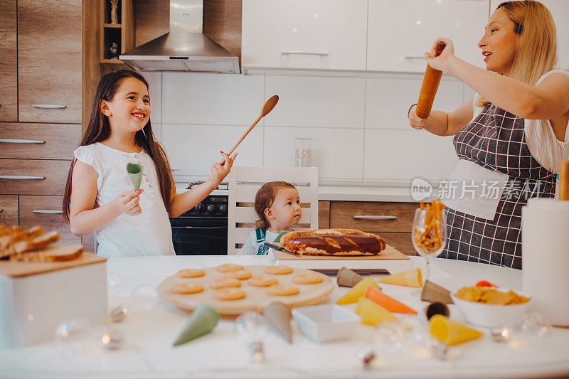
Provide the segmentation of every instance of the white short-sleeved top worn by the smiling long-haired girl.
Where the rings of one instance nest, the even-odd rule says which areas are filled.
[[[174,255],[172,230],[166,207],[162,201],[156,167],[144,151],[125,153],[99,142],[79,146],[75,158],[92,166],[97,178],[98,206],[112,201],[119,194],[132,190],[127,175],[127,164],[144,167],[140,188],[139,215],[122,213],[115,220],[97,230],[97,255],[105,257],[139,257],[144,255]]]

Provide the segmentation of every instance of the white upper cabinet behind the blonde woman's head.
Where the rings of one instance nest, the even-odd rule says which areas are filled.
[[[502,0],[491,0],[490,11],[494,12],[502,3]],[[547,6],[555,21],[557,28],[557,56],[558,67],[569,70],[569,1],[568,0],[540,0],[541,4]]]

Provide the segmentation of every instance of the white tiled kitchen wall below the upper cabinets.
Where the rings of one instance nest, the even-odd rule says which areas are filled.
[[[422,75],[144,75],[151,77],[155,134],[178,170],[176,181],[205,179],[219,151],[233,146],[275,94],[277,107],[240,145],[236,164],[294,166],[296,137],[312,138],[314,164],[326,182],[439,181],[457,161],[452,137],[408,126]],[[472,95],[445,77],[433,109],[454,110]]]

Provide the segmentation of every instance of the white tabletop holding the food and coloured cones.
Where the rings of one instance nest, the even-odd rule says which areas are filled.
[[[152,292],[159,282],[187,267],[211,267],[226,262],[262,265],[265,257],[181,256],[135,257],[107,262],[110,309],[139,289],[124,321],[113,324],[124,336],[123,348],[100,348],[103,326],[85,333],[83,343],[55,341],[18,350],[0,350],[0,378],[536,378],[569,375],[569,330],[553,329],[546,338],[499,343],[488,330],[477,341],[450,348],[450,360],[430,356],[426,347],[389,346],[378,327],[361,325],[346,341],[317,344],[294,325],[289,345],[267,333],[265,363],[252,363],[232,319],[222,319],[213,333],[173,348],[172,342],[188,313],[161,301]],[[424,261],[413,257],[420,267]],[[432,281],[454,290],[486,279],[501,287],[521,289],[521,272],[479,263],[435,260]],[[334,278],[335,279],[335,278]],[[70,284],[73,285],[73,284]],[[151,286],[151,287],[148,287]],[[413,307],[423,318],[422,303],[413,289],[381,284],[383,291]],[[348,289],[336,287],[329,302]],[[153,296],[154,295],[154,296]],[[355,306],[349,305],[349,309]],[[451,319],[463,322],[455,306]],[[410,319],[408,319],[410,320]],[[97,343],[95,343],[97,336]],[[80,339],[81,341],[81,339]],[[373,342],[375,341],[375,342]],[[356,352],[373,342],[376,360],[368,370],[356,364]]]

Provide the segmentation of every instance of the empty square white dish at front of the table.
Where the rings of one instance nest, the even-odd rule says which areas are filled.
[[[314,342],[349,338],[360,323],[358,315],[336,304],[300,306],[292,309],[300,330]]]

